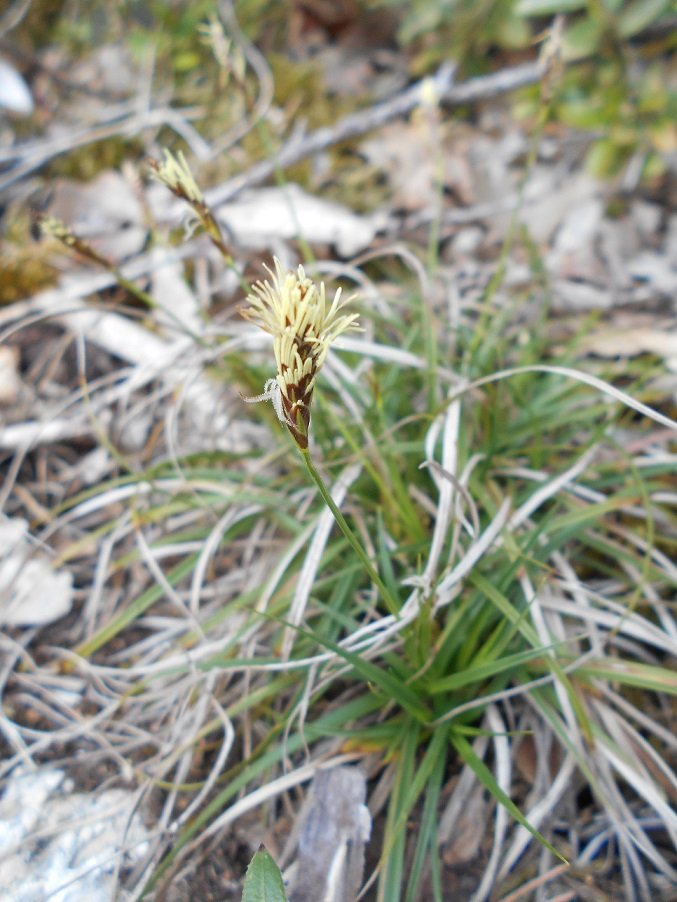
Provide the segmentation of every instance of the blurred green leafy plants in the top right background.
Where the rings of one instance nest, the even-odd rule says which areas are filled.
[[[534,41],[554,16],[566,16],[566,73],[551,120],[590,132],[589,171],[619,173],[633,156],[654,180],[664,157],[677,150],[677,94],[670,90],[670,54],[677,44],[670,0],[375,0],[402,10],[400,40],[413,53],[414,71],[443,60],[461,77],[505,64],[509,51],[534,52]],[[661,23],[673,27],[661,30]],[[652,29],[648,35],[647,29]],[[518,111],[534,117],[537,90]]]

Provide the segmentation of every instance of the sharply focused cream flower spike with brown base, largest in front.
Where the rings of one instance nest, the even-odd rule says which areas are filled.
[[[277,257],[270,281],[256,282],[242,316],[273,336],[277,387],[284,423],[298,446],[308,447],[310,403],[315,379],[329,346],[342,332],[358,329],[357,313],[341,313],[352,298],[341,300],[339,288],[327,305],[324,282],[309,279],[302,266],[285,272]]]

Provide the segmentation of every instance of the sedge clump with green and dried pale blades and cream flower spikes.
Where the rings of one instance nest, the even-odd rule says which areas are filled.
[[[156,176],[228,258],[172,160]],[[378,899],[444,899],[446,859],[473,824],[476,899],[534,875],[583,892],[602,872],[617,892],[620,870],[626,898],[658,897],[674,873],[664,721],[677,694],[659,368],[625,371],[630,395],[576,365],[575,338],[546,366],[545,335],[525,334],[499,280],[478,340],[472,304],[451,329],[400,268],[377,265],[404,287],[363,306],[368,340],[354,301],[329,299],[303,267],[275,261],[246,287],[245,319],[272,338],[263,397],[294,454],[266,433],[246,452],[156,461],[57,512],[54,530],[99,537],[97,592],[133,576],[131,602],[92,606],[66,663],[107,693],[102,748],[165,793],[171,840],[149,856],[147,889],[247,813],[274,824],[283,793],[352,761],[382,826]],[[233,331],[224,372],[263,382]],[[357,375],[330,354],[339,338]],[[636,420],[660,428],[623,441]],[[64,543],[62,558],[80,554]],[[41,691],[39,673],[22,681]],[[562,876],[558,855],[577,870]]]

